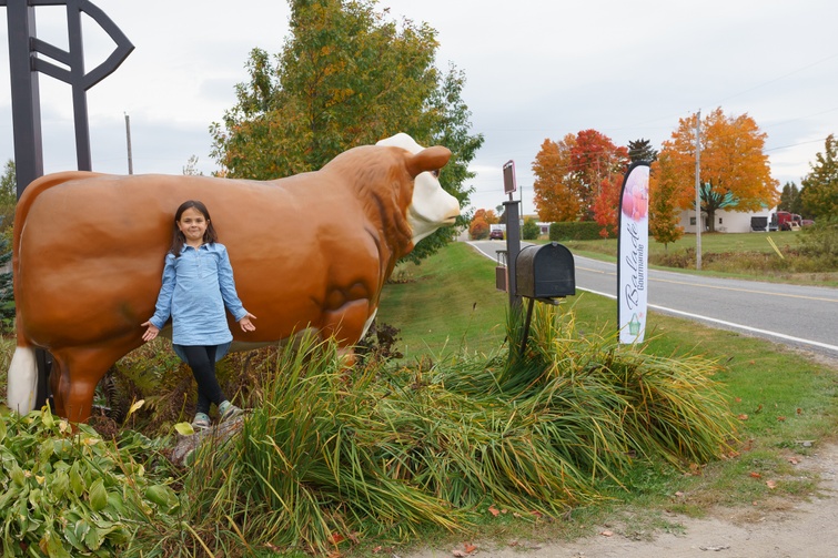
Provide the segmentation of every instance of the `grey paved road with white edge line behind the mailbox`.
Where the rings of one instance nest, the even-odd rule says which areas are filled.
[[[470,244],[495,260],[502,241]],[[575,256],[576,288],[616,298],[616,264]],[[649,307],[838,358],[838,288],[649,270]]]

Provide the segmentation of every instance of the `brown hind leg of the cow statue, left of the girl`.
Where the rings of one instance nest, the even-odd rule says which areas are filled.
[[[69,347],[52,353],[57,364],[52,384],[55,412],[73,423],[90,418],[93,394],[108,369],[138,347],[135,335],[103,347]]]

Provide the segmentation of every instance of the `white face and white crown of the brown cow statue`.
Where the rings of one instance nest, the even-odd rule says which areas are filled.
[[[402,148],[411,153],[424,150],[405,133],[386,138],[376,145]],[[413,244],[444,225],[453,225],[460,216],[460,202],[440,185],[438,170],[422,172],[413,184],[413,200],[407,209],[407,223],[413,232]]]

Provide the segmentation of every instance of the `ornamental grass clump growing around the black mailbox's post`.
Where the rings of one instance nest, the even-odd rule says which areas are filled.
[[[736,424],[721,386],[713,379],[720,369],[717,363],[648,354],[643,346],[619,344],[616,332],[580,335],[573,314],[539,306],[524,354],[519,348],[512,353],[498,377],[499,389],[545,397],[569,388],[588,410],[610,408],[618,422],[603,424],[616,445],[603,446],[600,456],[617,466],[625,455],[689,465],[733,452]],[[511,322],[511,329],[519,332],[521,317]]]

